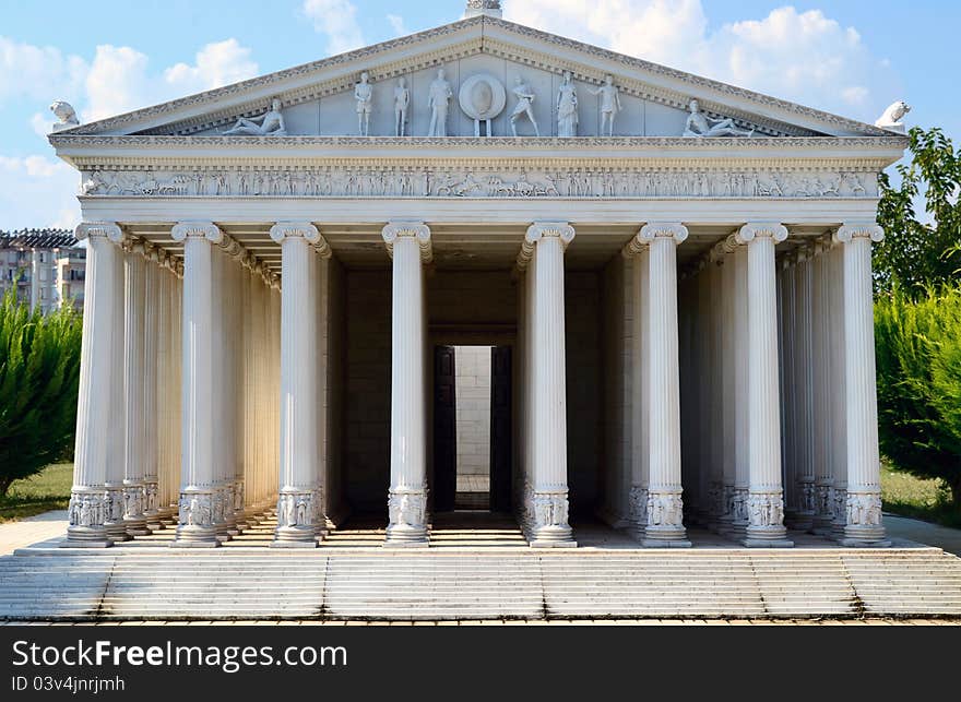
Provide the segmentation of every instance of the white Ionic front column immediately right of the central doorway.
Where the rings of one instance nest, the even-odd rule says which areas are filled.
[[[563,252],[574,229],[566,222],[527,227],[518,267],[531,276],[527,309],[531,323],[533,429],[532,485],[534,548],[573,548],[568,523],[567,371],[565,367]]]

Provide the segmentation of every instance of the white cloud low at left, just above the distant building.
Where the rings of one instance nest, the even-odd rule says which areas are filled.
[[[0,227],[63,227],[80,222],[80,175],[46,156],[0,156]]]

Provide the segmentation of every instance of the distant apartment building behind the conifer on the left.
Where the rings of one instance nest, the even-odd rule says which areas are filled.
[[[44,312],[71,301],[83,308],[86,249],[69,229],[0,231],[0,289]]]

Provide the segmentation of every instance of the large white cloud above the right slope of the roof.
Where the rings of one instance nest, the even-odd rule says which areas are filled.
[[[898,97],[853,27],[786,5],[709,31],[701,0],[524,0],[506,16],[616,51],[873,121]]]

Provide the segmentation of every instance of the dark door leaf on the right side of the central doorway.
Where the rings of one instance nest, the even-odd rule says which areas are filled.
[[[511,511],[511,349],[490,354],[490,510]]]

